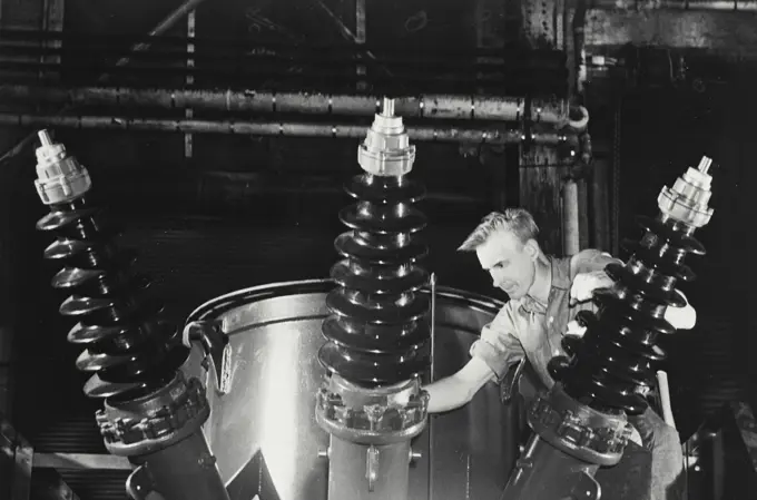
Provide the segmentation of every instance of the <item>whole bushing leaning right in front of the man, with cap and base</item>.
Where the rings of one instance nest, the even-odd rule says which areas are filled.
[[[675,332],[665,311],[686,304],[676,283],[695,275],[684,259],[705,254],[694,233],[712,216],[710,164],[704,157],[672,188],[663,187],[659,216],[640,218],[645,235],[629,248],[632,256],[625,266],[608,266],[615,285],[594,292],[598,314],[579,313],[586,333],[563,341],[570,360],[550,362],[558,383],[529,409],[534,433],[503,499],[601,497],[593,476],[599,467],[620,461],[630,437],[627,415],[648,408],[656,364],[665,359],[657,337]]]

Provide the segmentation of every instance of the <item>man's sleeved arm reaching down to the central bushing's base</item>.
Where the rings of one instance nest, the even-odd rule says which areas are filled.
[[[460,408],[486,382],[494,378],[501,380],[508,369],[523,357],[523,349],[513,331],[512,306],[508,303],[471,346],[471,361],[455,374],[423,388],[430,395],[429,413]]]

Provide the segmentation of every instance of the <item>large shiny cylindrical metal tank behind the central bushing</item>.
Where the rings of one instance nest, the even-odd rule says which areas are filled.
[[[272,450],[288,450],[283,452],[286,457],[292,455],[292,460],[286,459],[289,460],[286,464],[276,465],[274,461],[271,461],[265,465],[272,468],[265,472],[266,474],[282,474],[276,478],[271,476],[267,481],[273,481],[271,484],[274,488],[286,484],[285,489],[292,493],[287,493],[285,497],[287,500],[309,498],[326,500],[326,497],[321,493],[311,494],[311,489],[315,484],[313,481],[317,479],[317,487],[321,488],[326,484],[324,481],[327,480],[328,473],[327,462],[323,462],[323,457],[318,458],[318,452],[328,448],[328,437],[317,428],[314,420],[315,388],[325,375],[325,370],[315,354],[324,342],[321,322],[330,314],[325,297],[336,286],[336,282],[331,278],[267,283],[219,295],[203,303],[187,316],[187,323],[222,320],[222,327],[228,327],[226,331],[229,336],[228,345],[240,349],[229,357],[232,362],[247,360],[252,352],[258,355],[260,351],[257,347],[267,349],[266,354],[260,355],[267,356],[266,359],[271,361],[276,354],[274,351],[277,350],[277,344],[271,343],[271,340],[275,337],[283,339],[282,344],[296,345],[296,347],[288,349],[297,359],[292,366],[283,365],[281,362],[248,363],[243,364],[245,370],[248,370],[246,374],[244,371],[236,372],[232,369],[230,380],[236,380],[236,384],[230,384],[227,393],[217,391],[216,376],[209,370],[209,365],[201,363],[203,359],[207,359],[207,354],[198,346],[193,346],[191,362],[183,369],[190,376],[205,381],[203,384],[210,402],[212,416],[205,423],[204,431],[212,452],[218,453],[219,457],[223,454],[218,463],[224,468],[222,478],[227,488],[239,484],[239,489],[235,491],[242,491],[246,488],[244,484],[253,481],[254,478],[262,477],[263,464],[271,458],[267,454],[273,453]],[[433,379],[434,373],[446,373],[462,367],[471,343],[481,334],[481,327],[491,322],[505,303],[453,287],[438,285],[434,291],[438,304],[435,332],[440,342],[436,343],[435,364],[432,364],[424,374],[430,380]],[[422,293],[431,294],[431,286],[424,287]],[[304,304],[302,307],[301,302]],[[238,321],[234,320],[235,316],[239,317]],[[299,324],[291,330],[282,327],[287,323]],[[289,337],[289,341],[286,341],[286,337]],[[247,346],[247,350],[242,350],[242,346]],[[276,349],[272,351],[272,347]],[[278,384],[275,390],[269,388],[267,391],[255,392],[263,386],[259,383],[256,385],[255,381],[275,380],[281,370],[289,373],[284,389]],[[237,376],[240,378],[236,379]],[[312,389],[304,389],[311,385]],[[245,388],[249,388],[249,391]],[[296,422],[298,441],[294,445],[288,440],[292,434],[289,430],[275,431],[275,429],[271,430],[273,429],[271,423],[268,427],[265,425],[266,419],[271,421],[281,418],[281,415],[266,416],[279,410],[267,411],[265,409],[278,404],[281,394],[277,394],[277,391],[282,390],[289,394],[289,399],[294,398],[301,402],[292,409],[293,413],[289,416],[289,420]],[[259,394],[255,395],[259,398],[257,403],[253,403],[256,401],[250,395],[253,393]],[[275,404],[266,404],[266,401]],[[245,414],[246,418],[240,420],[237,416],[239,414]],[[427,497],[426,489],[431,476],[426,478],[425,474],[429,472],[425,470],[432,464],[452,468],[448,476],[454,478],[455,484],[464,483],[458,488],[461,492],[470,489],[474,491],[497,489],[497,497],[499,497],[503,484],[497,483],[499,480],[492,478],[499,478],[499,465],[505,467],[509,452],[502,445],[497,444],[501,443],[503,431],[500,420],[492,419],[492,414],[507,414],[501,405],[500,388],[494,385],[484,388],[466,409],[435,415],[426,437],[416,442],[422,453],[425,453],[421,458],[425,462],[423,462],[424,465],[413,469],[415,472],[412,472],[411,483],[413,486],[411,488],[419,492],[419,496],[413,498],[425,499]],[[493,420],[497,420],[495,424],[492,424]],[[230,427],[224,425],[224,422],[230,421],[237,423]],[[473,427],[475,431],[472,430]],[[454,439],[448,437],[449,433],[458,435],[458,430],[463,428],[470,429],[470,432],[464,432],[463,437]],[[268,429],[269,432],[266,431],[268,433],[273,432],[269,439],[266,438],[266,442],[263,439],[265,429]],[[248,445],[239,445],[239,442],[248,443]],[[495,448],[492,443],[495,443]],[[245,447],[253,450],[255,454],[250,457]],[[466,454],[468,459],[461,462],[460,453]],[[255,457],[258,454],[262,458],[258,460],[259,463],[255,462]],[[497,472],[492,472],[491,463],[498,464]],[[293,467],[301,472],[289,474],[292,472],[289,468]],[[471,468],[476,471],[481,470],[481,472],[471,476]],[[259,484],[255,488],[259,488]],[[246,496],[235,497],[238,500],[247,498]],[[495,497],[485,496],[485,498]]]

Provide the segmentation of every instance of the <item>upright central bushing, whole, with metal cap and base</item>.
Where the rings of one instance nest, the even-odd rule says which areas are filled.
[[[328,376],[316,419],[331,434],[330,500],[407,499],[411,440],[426,423],[421,375],[430,365],[429,282],[417,262],[425,216],[412,206],[424,187],[406,176],[415,160],[394,100],[383,99],[357,150],[365,174],[347,193],[357,204],[340,214],[351,228],[336,238],[345,258],[332,267],[338,285],[323,324],[318,357]]]

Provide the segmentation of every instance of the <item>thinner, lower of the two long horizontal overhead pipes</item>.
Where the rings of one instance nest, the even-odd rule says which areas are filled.
[[[118,116],[58,116],[0,114],[0,125],[20,127],[88,128],[131,131],[174,131],[184,134],[237,134],[284,137],[362,138],[364,125],[307,124],[296,121],[232,121],[165,118],[124,118]],[[537,144],[578,148],[576,135],[557,131],[504,130],[495,127],[407,127],[412,140],[444,143]],[[574,151],[573,151],[574,154]]]

